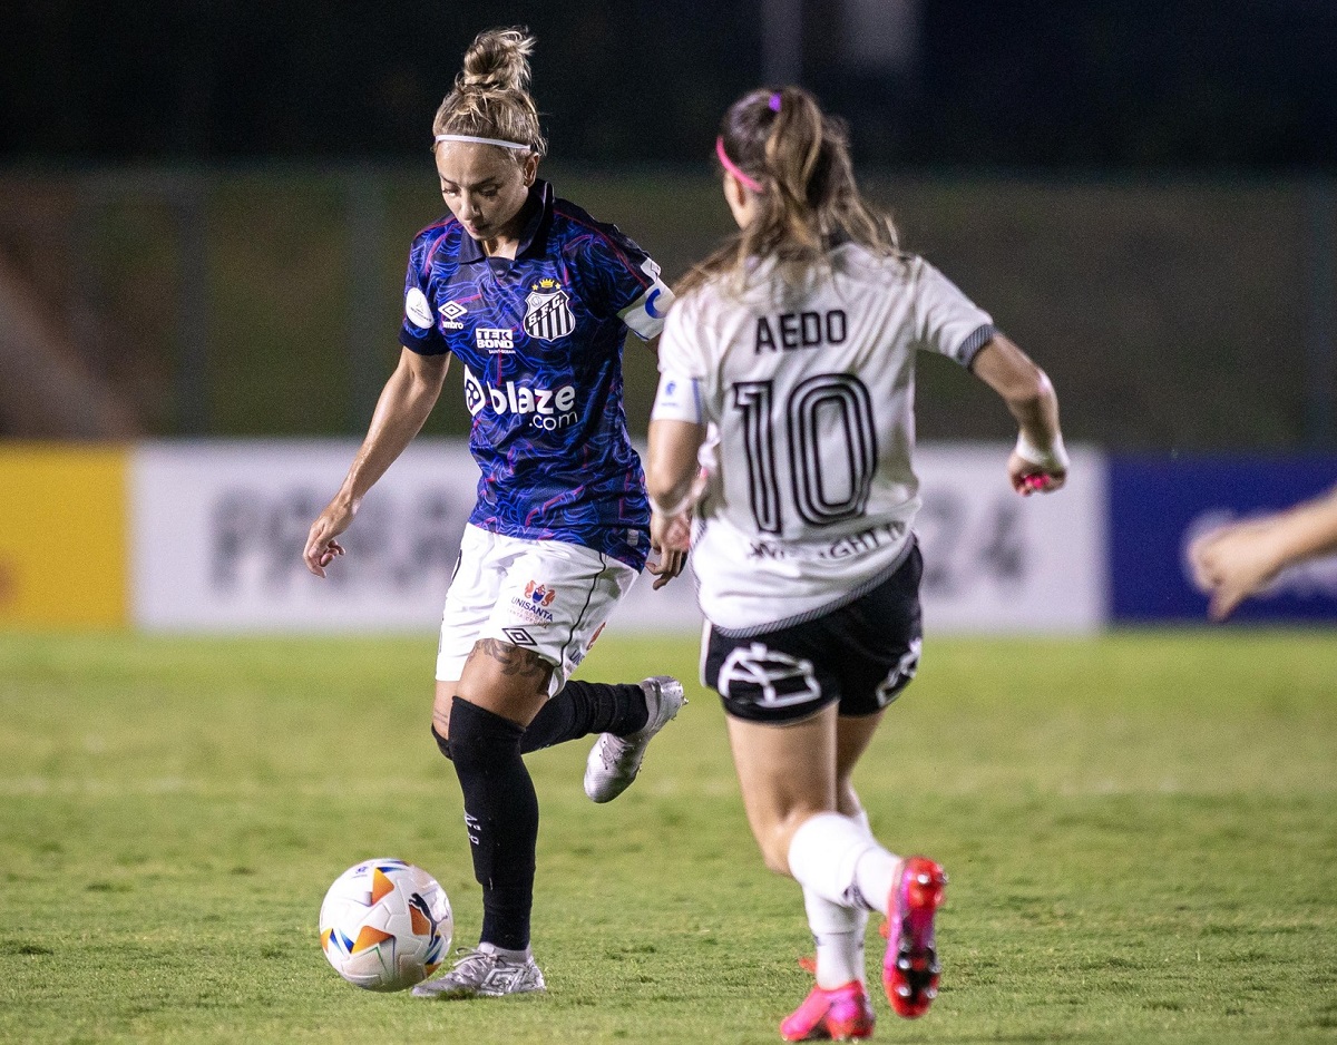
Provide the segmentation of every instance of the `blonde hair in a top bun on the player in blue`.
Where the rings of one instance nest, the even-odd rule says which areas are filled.
[[[436,111],[433,138],[439,134],[495,138],[525,144],[543,156],[548,143],[539,127],[539,110],[529,98],[531,53],[533,36],[527,29],[480,32],[464,53],[464,68],[455,78],[455,90]],[[507,151],[517,160],[525,155],[519,150]]]

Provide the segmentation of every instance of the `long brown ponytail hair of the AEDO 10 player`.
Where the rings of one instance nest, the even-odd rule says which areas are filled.
[[[725,114],[719,142],[729,162],[761,186],[758,214],[679,282],[686,294],[717,277],[745,282],[749,258],[774,257],[786,281],[821,267],[838,242],[874,254],[897,250],[890,218],[854,183],[845,124],[822,114],[801,87],[762,88]]]

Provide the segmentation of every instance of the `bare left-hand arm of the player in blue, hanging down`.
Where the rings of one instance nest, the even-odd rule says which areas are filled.
[[[422,355],[410,349],[400,353],[400,365],[381,390],[366,438],[349,465],[344,485],[312,524],[306,537],[302,557],[317,577],[324,577],[325,567],[344,555],[336,539],[353,521],[362,497],[422,430],[441,394],[449,366],[449,354]]]

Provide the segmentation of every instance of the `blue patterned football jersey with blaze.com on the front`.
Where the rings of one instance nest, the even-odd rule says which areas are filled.
[[[513,261],[487,257],[453,216],[418,233],[400,343],[464,365],[483,472],[472,524],[640,569],[650,506],[627,437],[622,343],[628,327],[655,337],[673,295],[640,247],[547,182],[527,207]]]

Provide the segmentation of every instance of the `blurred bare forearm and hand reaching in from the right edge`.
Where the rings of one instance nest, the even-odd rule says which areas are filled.
[[[1337,488],[1262,518],[1214,529],[1189,549],[1198,587],[1211,596],[1213,620],[1229,617],[1282,569],[1337,552]]]

